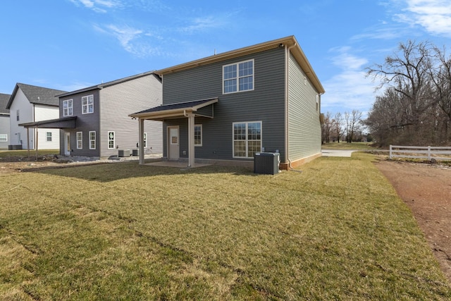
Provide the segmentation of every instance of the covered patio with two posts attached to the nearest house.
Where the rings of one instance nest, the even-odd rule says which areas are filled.
[[[155,106],[154,108],[140,111],[137,113],[132,113],[129,116],[132,118],[137,118],[139,121],[139,154],[140,154],[140,164],[144,165],[144,121],[165,121],[168,119],[176,118],[187,118],[188,125],[188,164],[187,167],[194,167],[194,118],[197,116],[214,118],[214,104],[218,102],[218,98],[201,99],[193,102],[182,102],[178,104],[165,104],[161,106]],[[165,135],[166,133],[163,133]],[[175,139],[175,138],[173,138]],[[178,145],[178,139],[171,141],[171,144]],[[169,141],[166,145],[166,156],[169,152]],[[155,162],[154,162],[155,163]],[[152,163],[152,164],[154,164]],[[171,162],[184,164],[183,162]],[[146,164],[147,165],[147,164]]]

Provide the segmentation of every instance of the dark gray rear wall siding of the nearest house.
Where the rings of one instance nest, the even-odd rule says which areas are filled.
[[[254,90],[223,94],[223,66],[249,59],[254,59]],[[202,124],[202,147],[195,147],[196,158],[233,160],[233,123],[251,121],[262,123],[261,140],[265,150],[279,149],[280,154],[284,154],[285,51],[283,48],[163,75],[164,104],[213,97],[218,97],[218,103],[214,104],[214,118],[195,119],[196,124]],[[180,125],[180,157],[187,157],[187,118],[165,121],[164,156],[166,156],[168,125]],[[184,150],[186,154],[183,154]],[[281,159],[284,160],[284,158]]]

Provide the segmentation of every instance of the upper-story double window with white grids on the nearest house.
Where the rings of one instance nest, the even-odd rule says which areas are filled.
[[[254,60],[223,66],[223,93],[254,90]]]

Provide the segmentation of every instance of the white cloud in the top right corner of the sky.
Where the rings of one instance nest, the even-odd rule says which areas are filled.
[[[403,13],[397,20],[409,25],[420,25],[434,35],[451,37],[451,2],[449,0],[405,0]]]

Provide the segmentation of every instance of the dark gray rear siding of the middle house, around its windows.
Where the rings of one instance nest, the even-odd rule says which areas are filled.
[[[82,114],[82,97],[94,96],[94,113]],[[70,148],[73,156],[100,156],[99,144],[99,90],[89,90],[78,94],[61,97],[59,100],[59,116],[63,117],[63,101],[73,99],[73,116],[77,116],[77,128],[63,129],[60,131],[60,154],[64,154],[66,139],[64,133],[70,133]],[[96,149],[89,149],[89,131],[96,132]],[[82,132],[83,148],[77,149],[77,132]]]

